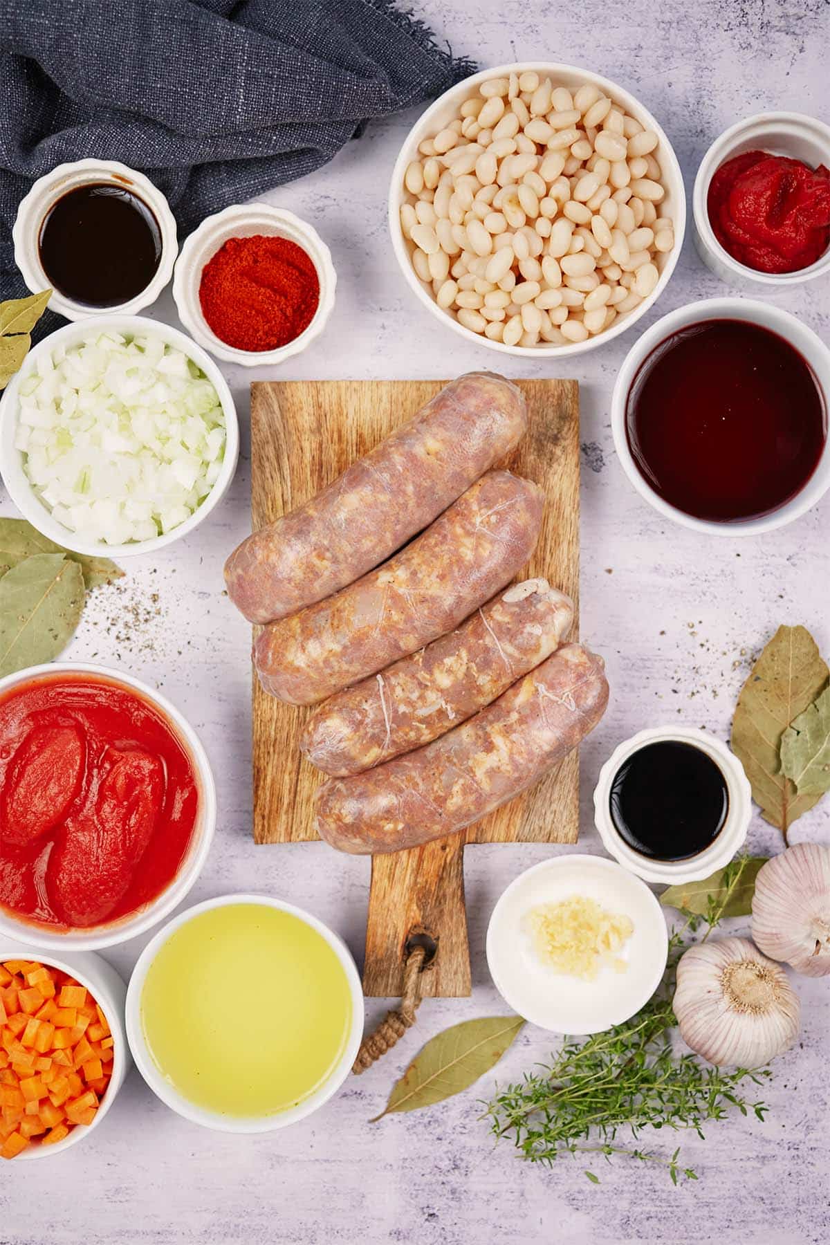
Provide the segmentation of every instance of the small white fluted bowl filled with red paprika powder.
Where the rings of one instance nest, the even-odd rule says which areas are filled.
[[[208,217],[187,239],[173,274],[182,324],[218,359],[281,364],[322,332],[337,275],[317,232],[268,203]]]

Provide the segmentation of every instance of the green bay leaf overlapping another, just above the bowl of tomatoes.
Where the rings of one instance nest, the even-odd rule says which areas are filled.
[[[86,591],[77,561],[37,553],[0,579],[0,676],[51,661],[75,634]]]

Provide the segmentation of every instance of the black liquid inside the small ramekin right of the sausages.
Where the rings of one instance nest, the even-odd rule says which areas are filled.
[[[611,820],[630,848],[652,860],[688,860],[706,850],[729,812],[719,767],[692,743],[648,743],[611,784]]]

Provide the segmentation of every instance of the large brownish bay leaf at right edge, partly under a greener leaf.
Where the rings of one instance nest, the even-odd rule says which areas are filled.
[[[804,626],[779,626],[744,684],[732,722],[732,751],[742,762],[753,799],[784,834],[821,798],[801,794],[781,773],[781,736],[813,703],[830,676]]]

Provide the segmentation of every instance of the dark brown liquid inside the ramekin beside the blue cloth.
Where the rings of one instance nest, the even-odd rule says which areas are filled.
[[[37,245],[56,290],[73,303],[110,308],[147,289],[162,259],[162,230],[127,186],[97,182],[52,204]]]

